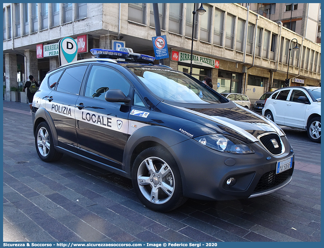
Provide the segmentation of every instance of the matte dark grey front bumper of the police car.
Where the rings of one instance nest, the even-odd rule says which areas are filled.
[[[259,142],[254,154],[214,151],[193,139],[170,147],[179,165],[184,196],[203,200],[232,200],[272,193],[287,185],[294,170],[294,153],[285,137],[285,152],[271,155]],[[269,159],[270,157],[270,159]],[[276,174],[278,161],[293,157],[292,168]],[[268,158],[268,159],[267,159]],[[227,179],[235,178],[233,186]]]

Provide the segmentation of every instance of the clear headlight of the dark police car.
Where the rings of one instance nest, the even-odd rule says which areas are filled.
[[[246,143],[222,134],[211,134],[194,138],[202,145],[225,153],[251,154],[254,150]]]

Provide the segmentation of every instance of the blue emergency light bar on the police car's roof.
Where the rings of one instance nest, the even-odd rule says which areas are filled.
[[[109,49],[100,49],[94,48],[90,49],[90,52],[93,56],[97,56],[99,58],[111,58],[111,59],[125,59],[131,60],[133,62],[153,62],[155,57],[139,54],[139,53],[132,53],[124,51],[116,51],[116,50],[109,50]]]

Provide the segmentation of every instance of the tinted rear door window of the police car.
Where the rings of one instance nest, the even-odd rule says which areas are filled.
[[[67,68],[57,83],[56,90],[70,94],[79,94],[81,82],[87,66]]]

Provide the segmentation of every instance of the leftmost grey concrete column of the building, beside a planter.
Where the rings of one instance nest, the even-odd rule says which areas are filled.
[[[5,54],[6,67],[6,100],[10,101],[10,87],[18,88],[17,82],[17,55]]]

